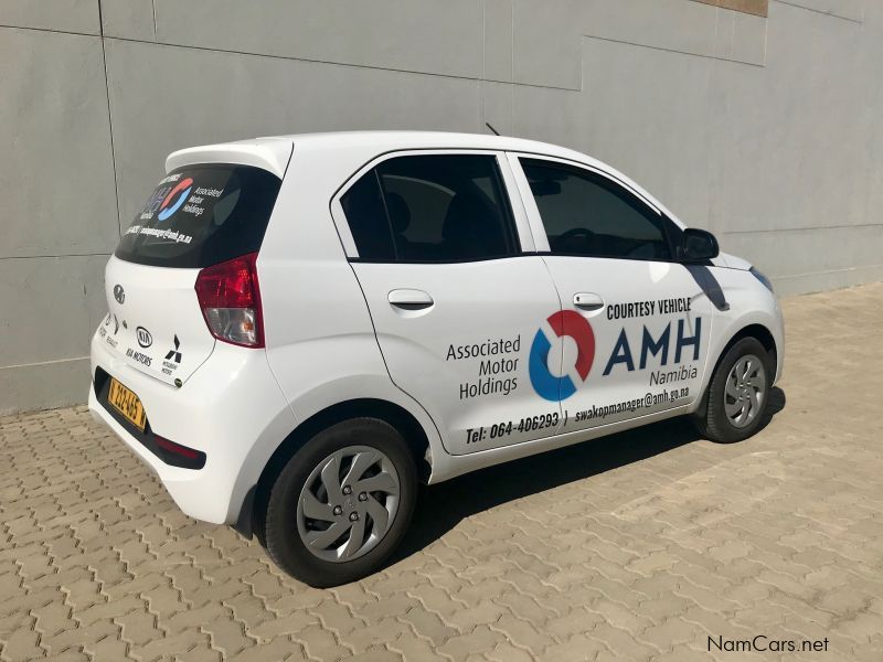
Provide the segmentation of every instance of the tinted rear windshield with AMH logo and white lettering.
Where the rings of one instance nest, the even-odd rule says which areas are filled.
[[[164,177],[116,256],[160,267],[202,268],[260,248],[281,180],[251,166],[188,166]]]

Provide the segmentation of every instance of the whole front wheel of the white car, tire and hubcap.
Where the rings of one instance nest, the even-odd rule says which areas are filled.
[[[694,416],[703,436],[732,444],[757,431],[766,415],[774,367],[764,345],[743,338],[717,364],[704,412]]]

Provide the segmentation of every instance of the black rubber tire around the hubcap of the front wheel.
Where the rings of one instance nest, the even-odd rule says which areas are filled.
[[[727,417],[724,406],[726,380],[736,362],[749,354],[757,356],[764,364],[764,397],[760,402],[760,410],[754,419],[745,427],[737,427]],[[712,375],[705,394],[704,406],[700,407],[699,412],[693,415],[693,421],[700,434],[706,439],[719,444],[734,444],[754,435],[766,420],[775,370],[769,354],[757,339],[743,338],[735,342],[717,362],[717,367],[714,370],[714,375]]]

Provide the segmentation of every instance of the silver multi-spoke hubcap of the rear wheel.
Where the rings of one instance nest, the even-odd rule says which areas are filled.
[[[349,446],[310,473],[297,503],[297,530],[322,560],[352,560],[383,540],[397,511],[398,472],[390,458]]]

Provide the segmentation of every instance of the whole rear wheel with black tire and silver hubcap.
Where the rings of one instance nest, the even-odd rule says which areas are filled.
[[[414,459],[395,428],[374,418],[333,425],[276,479],[263,527],[267,553],[311,586],[359,579],[402,541],[416,492]]]

